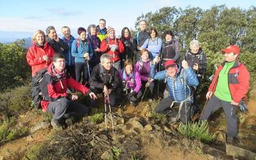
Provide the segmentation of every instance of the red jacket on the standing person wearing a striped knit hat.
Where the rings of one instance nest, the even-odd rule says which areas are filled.
[[[109,45],[112,45],[112,44],[118,45],[118,51],[112,52],[110,50]],[[113,60],[118,61],[120,60],[119,54],[124,52],[124,44],[121,40],[118,40],[116,38],[114,40],[109,40],[109,38],[107,37],[104,40],[102,40],[100,44],[100,52],[108,53],[111,56],[111,61]]]

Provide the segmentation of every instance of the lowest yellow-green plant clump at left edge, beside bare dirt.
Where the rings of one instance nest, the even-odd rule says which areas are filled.
[[[28,127],[17,127],[15,117],[3,120],[0,123],[0,141],[11,141],[23,136],[28,132]]]

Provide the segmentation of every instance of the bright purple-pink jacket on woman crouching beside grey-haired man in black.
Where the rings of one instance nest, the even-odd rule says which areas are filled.
[[[124,70],[121,69],[119,71],[119,78],[121,81],[125,81],[127,83],[127,86],[134,90],[136,93],[140,91],[141,88],[141,79],[140,79],[140,74],[139,72],[132,72],[130,76],[125,74]],[[133,80],[132,80],[133,79]]]

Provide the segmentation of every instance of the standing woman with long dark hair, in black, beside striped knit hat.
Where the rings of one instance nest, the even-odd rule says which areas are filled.
[[[133,61],[133,55],[135,50],[135,44],[131,37],[131,31],[125,27],[122,29],[122,42],[124,43],[124,53],[120,54],[121,68],[124,67],[124,61],[130,59]]]

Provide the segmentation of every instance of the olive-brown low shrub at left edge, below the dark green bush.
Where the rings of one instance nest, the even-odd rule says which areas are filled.
[[[30,86],[17,87],[0,93],[0,112],[5,115],[17,115],[31,108]]]

